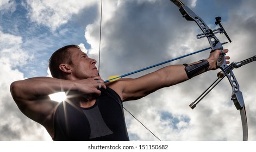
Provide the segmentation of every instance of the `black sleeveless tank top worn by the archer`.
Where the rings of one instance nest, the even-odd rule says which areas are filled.
[[[62,102],[54,115],[54,141],[129,141],[121,98],[107,87],[95,105]]]

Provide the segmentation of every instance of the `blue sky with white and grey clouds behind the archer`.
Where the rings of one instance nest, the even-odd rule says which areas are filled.
[[[256,1],[183,2],[212,29],[218,28],[215,17],[222,17],[222,26],[232,40],[224,45],[229,49],[230,61],[256,55]],[[51,141],[41,125],[18,110],[9,86],[15,80],[48,76],[49,57],[65,45],[79,45],[98,60],[100,14],[100,0],[0,1],[0,141]],[[105,0],[101,77],[106,80],[110,75],[126,74],[209,47],[207,39],[196,39],[199,33],[196,23],[186,21],[168,0]],[[222,34],[216,36],[221,42],[228,41]],[[209,51],[170,64],[205,59]],[[255,64],[234,69],[247,108],[249,141],[256,141]],[[129,77],[140,77],[161,67]],[[126,102],[124,107],[162,141],[241,141],[240,113],[230,100],[232,88],[226,78],[195,109],[189,107],[213,83],[219,71],[209,71],[140,100]],[[158,141],[129,113],[125,115],[130,140]]]

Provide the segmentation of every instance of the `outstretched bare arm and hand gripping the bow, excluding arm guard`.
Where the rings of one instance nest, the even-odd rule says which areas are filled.
[[[227,52],[227,49],[224,50],[224,53]],[[210,65],[208,70],[216,69],[216,62],[220,54],[221,51],[216,50],[210,54],[208,59],[206,59]],[[229,57],[227,56],[226,59],[229,59]],[[196,63],[197,62],[194,62],[192,64]],[[227,64],[228,63],[229,61],[227,61]],[[145,97],[149,93],[157,91],[160,88],[176,85],[188,80],[189,78],[184,68],[184,65],[167,66],[159,69],[158,71],[143,75],[140,78],[126,78],[114,81],[113,83],[109,83],[108,86],[113,88],[120,95],[123,101],[135,100]]]

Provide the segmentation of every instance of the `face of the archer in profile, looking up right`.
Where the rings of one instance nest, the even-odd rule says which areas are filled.
[[[78,48],[70,48],[72,59],[72,76],[74,79],[86,79],[98,76],[98,70],[95,66],[96,60],[91,59]]]

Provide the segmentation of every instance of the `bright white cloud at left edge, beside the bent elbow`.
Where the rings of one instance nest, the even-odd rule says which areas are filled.
[[[1,141],[46,140],[41,136],[42,126],[24,116],[10,94],[10,84],[24,79],[17,67],[26,65],[30,56],[21,49],[20,36],[0,31],[0,134]],[[2,39],[3,38],[3,39]]]

